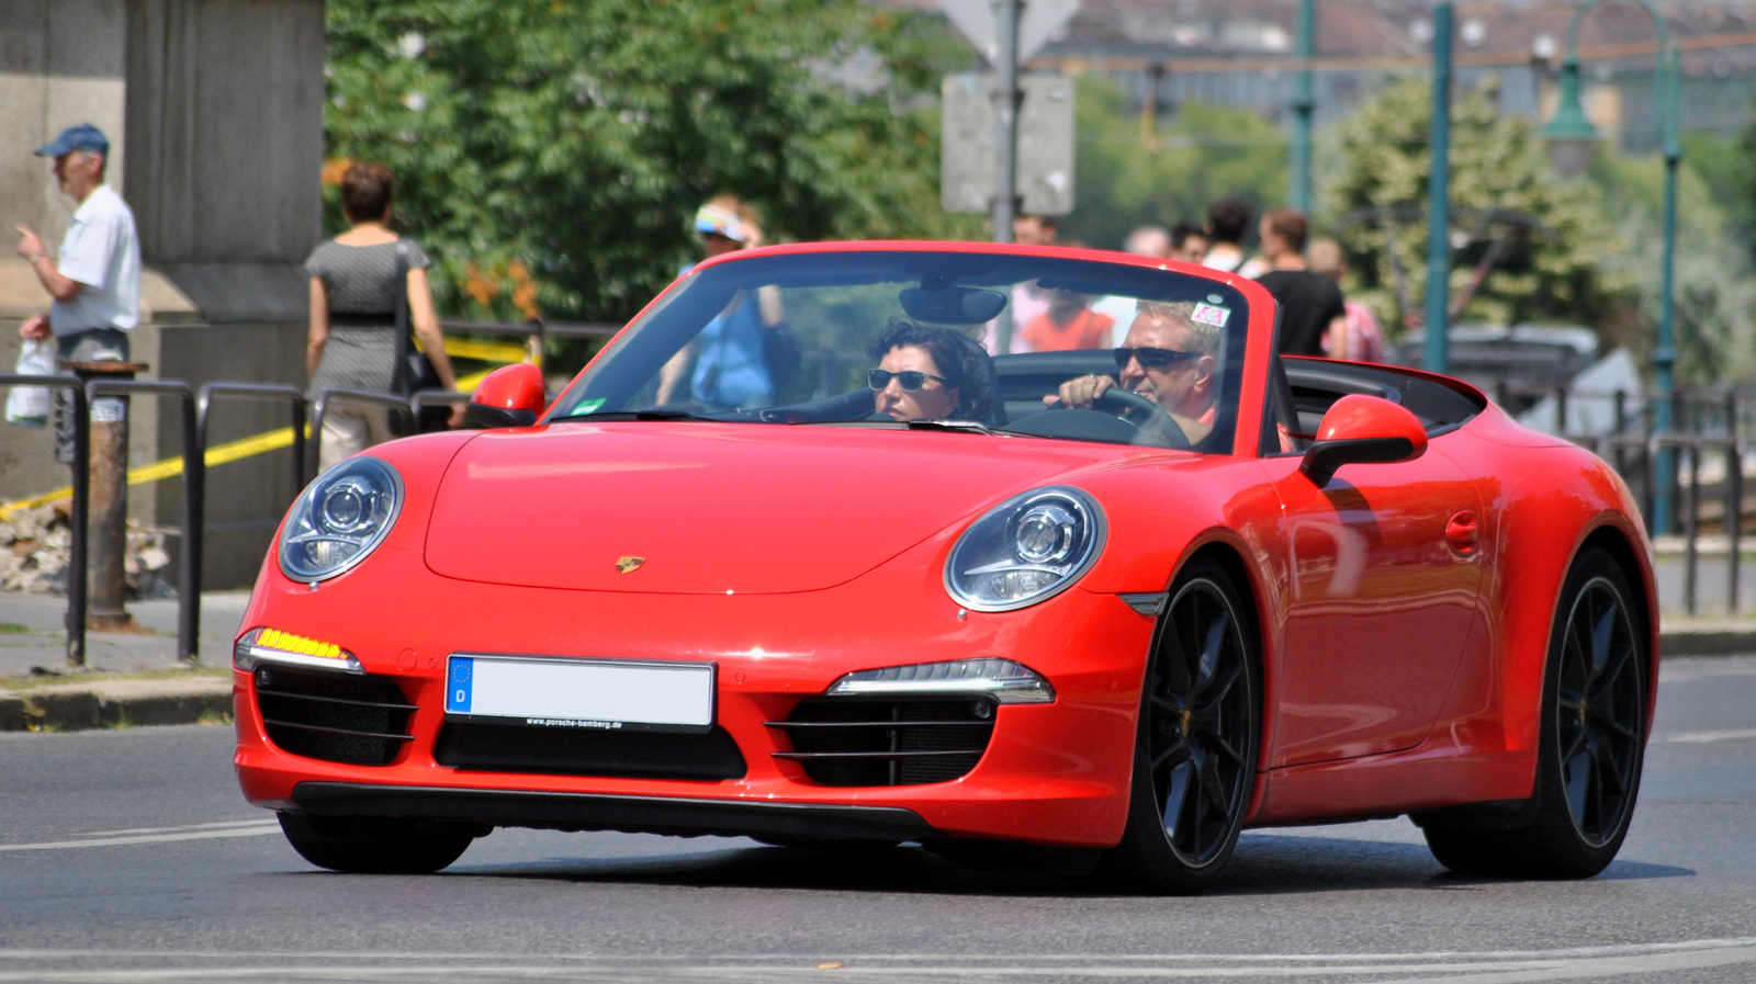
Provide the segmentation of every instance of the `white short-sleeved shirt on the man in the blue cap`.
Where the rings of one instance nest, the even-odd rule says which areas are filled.
[[[49,309],[56,335],[88,328],[128,332],[140,323],[140,237],[133,212],[109,184],[100,184],[74,210],[56,268],[81,284],[72,300]]]

